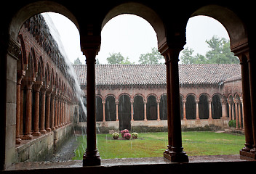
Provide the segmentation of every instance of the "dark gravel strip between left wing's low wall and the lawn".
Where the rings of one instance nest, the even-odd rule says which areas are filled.
[[[69,141],[66,141],[65,144],[63,144],[63,147],[58,150],[56,154],[53,154],[51,162],[63,162],[71,160],[73,157],[75,157],[74,151],[76,147],[78,146],[78,142],[76,141],[76,136],[71,136]]]

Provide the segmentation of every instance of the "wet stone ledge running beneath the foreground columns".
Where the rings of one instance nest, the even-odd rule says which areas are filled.
[[[193,156],[189,157],[189,163],[199,162],[247,162],[255,161],[248,157],[240,157],[239,154],[235,155],[212,155],[212,156]],[[148,157],[148,158],[125,158],[125,159],[102,159],[101,166],[112,167],[122,165],[172,165],[175,162],[169,162],[164,157]],[[81,160],[73,160],[66,162],[19,162],[7,170],[34,170],[46,168],[70,168],[82,167]]]

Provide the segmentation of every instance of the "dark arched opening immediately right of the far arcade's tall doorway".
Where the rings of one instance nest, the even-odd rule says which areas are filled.
[[[134,120],[143,120],[144,119],[144,101],[143,96],[137,95],[133,101],[133,119]]]

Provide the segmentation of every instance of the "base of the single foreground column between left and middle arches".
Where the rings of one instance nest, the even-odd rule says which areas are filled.
[[[95,166],[100,165],[100,154],[97,152],[97,149],[95,149],[94,152],[88,152],[86,151],[84,153],[83,157],[83,167],[85,166]]]

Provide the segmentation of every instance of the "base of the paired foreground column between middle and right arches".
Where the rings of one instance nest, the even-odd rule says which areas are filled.
[[[175,149],[175,151],[173,150]],[[168,159],[171,162],[188,162],[188,155],[183,151],[183,147],[175,148],[172,147],[172,151],[167,149],[164,152],[164,158]]]

